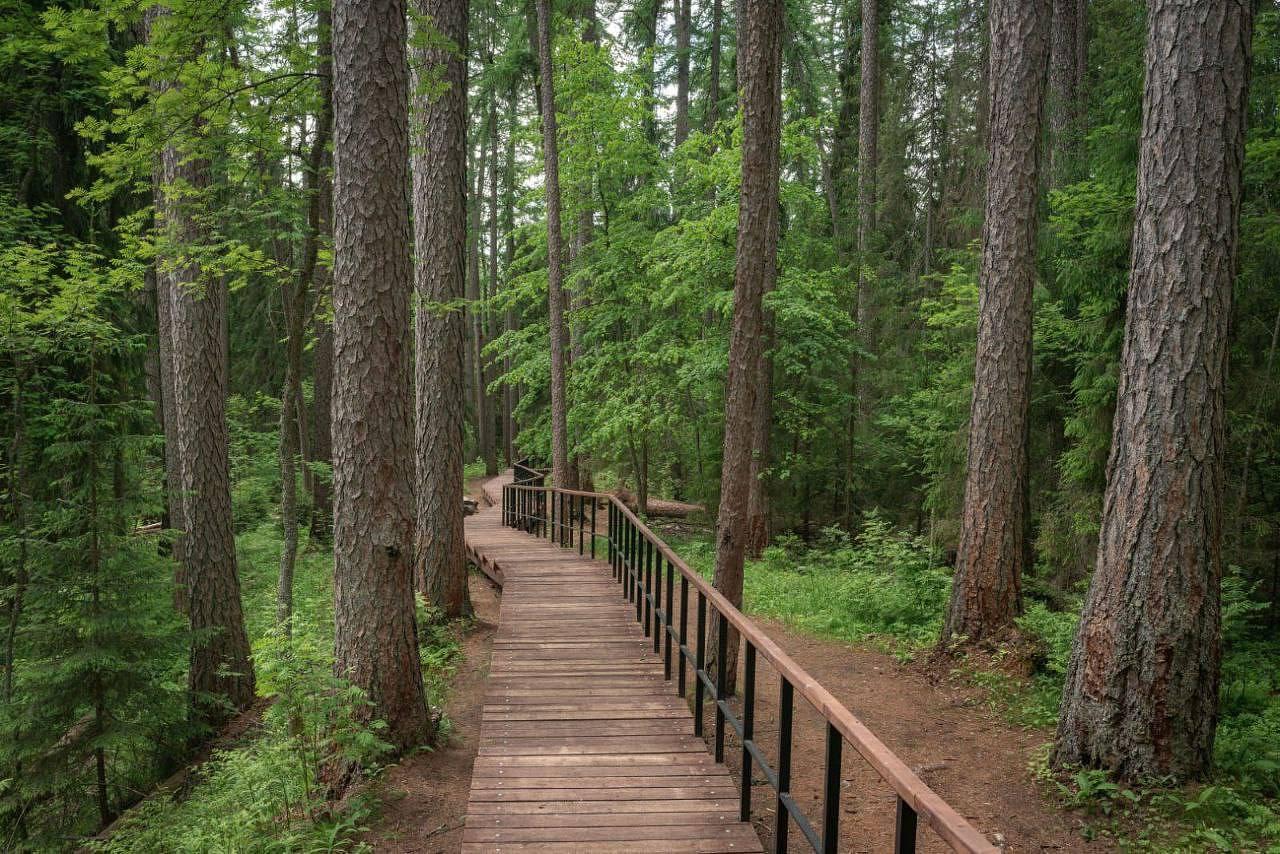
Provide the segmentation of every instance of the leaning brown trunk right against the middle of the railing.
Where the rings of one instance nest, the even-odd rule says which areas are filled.
[[[753,423],[764,333],[764,293],[777,278],[778,146],[782,118],[782,0],[739,5],[739,91],[742,111],[742,188],[737,214],[733,325],[724,389],[724,456],[716,519],[716,588],[742,604],[742,560],[751,490]],[[717,649],[712,644],[712,650]],[[731,635],[727,672],[737,665]],[[714,671],[713,671],[714,672]],[[731,688],[732,682],[730,684]]]

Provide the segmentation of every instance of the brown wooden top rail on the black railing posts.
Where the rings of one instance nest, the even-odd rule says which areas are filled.
[[[561,493],[576,498],[608,499],[614,508],[640,531],[676,570],[689,580],[689,583],[705,597],[712,607],[723,615],[726,620],[751,643],[758,654],[764,656],[780,676],[786,679],[820,716],[823,716],[847,740],[858,753],[870,764],[897,795],[910,804],[916,813],[924,817],[929,827],[942,837],[954,850],[965,854],[998,854],[1000,849],[992,845],[973,825],[960,813],[947,804],[936,791],[920,780],[905,762],[902,762],[888,746],[881,741],[856,714],[836,699],[831,691],[822,686],[817,679],[809,675],[804,667],[795,662],[786,652],[778,647],[772,638],[744,615],[732,602],[724,598],[719,590],[707,583],[701,575],[689,567],[685,561],[676,554],[666,542],[645,525],[631,508],[616,495],[598,492],[584,492],[580,489],[559,489],[556,487],[529,487],[512,484],[512,489],[529,492]]]

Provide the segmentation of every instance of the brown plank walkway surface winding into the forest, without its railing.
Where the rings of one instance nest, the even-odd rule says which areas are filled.
[[[762,851],[609,565],[504,528],[498,507],[466,539],[503,593],[462,850]]]

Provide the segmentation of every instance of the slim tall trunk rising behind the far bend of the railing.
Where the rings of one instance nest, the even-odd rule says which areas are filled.
[[[556,124],[556,90],[552,83],[550,0],[536,0],[538,70],[541,79],[543,164],[547,188],[547,301],[552,348],[552,479],[557,487],[573,483],[568,462],[568,330],[564,325],[564,234],[561,229],[559,142]]]

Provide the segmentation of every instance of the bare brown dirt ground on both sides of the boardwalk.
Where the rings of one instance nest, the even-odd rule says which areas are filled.
[[[448,744],[388,771],[384,804],[365,841],[378,851],[445,854],[461,848],[471,766],[480,731],[489,653],[498,620],[498,593],[472,576],[476,621],[462,639],[445,712],[453,731]],[[929,786],[1006,851],[1100,851],[1103,840],[1085,841],[1084,818],[1051,803],[1032,777],[1032,759],[1048,741],[1044,731],[1016,727],[982,702],[979,689],[938,673],[925,662],[902,665],[861,645],[815,638],[773,620],[758,620],[803,667],[858,714]],[[777,679],[763,663],[756,680],[758,740],[776,755]],[[707,729],[708,735],[712,727]],[[730,767],[740,771],[741,750],[727,740]],[[818,714],[797,703],[792,748],[792,791],[820,826],[824,729]],[[762,840],[773,835],[772,790],[756,769],[753,813]],[[846,745],[842,764],[841,851],[891,850],[895,796],[877,773]],[[796,850],[804,848],[792,831]],[[922,827],[922,851],[947,850]]]

